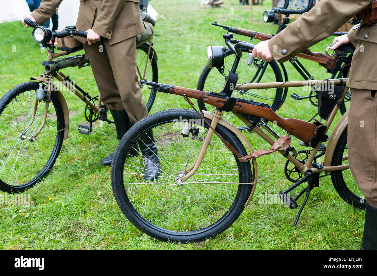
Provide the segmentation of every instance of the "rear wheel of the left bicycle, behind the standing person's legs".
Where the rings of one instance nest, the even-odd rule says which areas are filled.
[[[140,83],[140,80],[147,79],[148,81],[158,82],[158,67],[156,53],[153,48],[149,50],[149,44],[147,43],[136,47],[136,70],[138,73],[138,85],[142,93],[141,97],[149,112],[156,98],[156,89],[148,89],[147,85]]]

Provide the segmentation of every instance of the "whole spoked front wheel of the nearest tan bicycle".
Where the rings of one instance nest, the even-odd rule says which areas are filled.
[[[183,136],[187,124],[191,132]],[[144,155],[126,156],[151,130],[161,173],[154,182],[145,182]],[[139,230],[163,241],[202,241],[223,232],[241,215],[253,188],[251,165],[240,162],[215,134],[198,170],[179,182],[195,162],[207,131],[208,125],[195,111],[176,109],[140,120],[123,136],[112,163],[112,189],[120,209]],[[235,134],[221,125],[216,131],[246,154]]]

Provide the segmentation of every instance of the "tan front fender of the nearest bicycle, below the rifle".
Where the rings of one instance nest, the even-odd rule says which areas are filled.
[[[205,118],[213,120],[213,114],[212,113],[210,113],[208,111],[204,111],[204,110],[202,110],[202,112],[203,112]],[[253,148],[250,145],[250,142],[247,140],[245,135],[242,134],[242,132],[238,130],[238,128],[234,127],[234,125],[230,124],[230,122],[228,122],[227,120],[224,120],[222,118],[220,118],[218,124],[228,128],[228,130],[230,130],[231,132],[236,134],[236,136],[247,146],[247,149],[249,150],[250,154],[252,154],[254,152]],[[250,162],[253,165],[254,181],[252,182],[253,183],[252,184],[253,189],[251,190],[251,194],[250,194],[249,198],[247,199],[247,201],[244,205],[245,207],[247,207],[249,205],[250,200],[254,195],[254,191],[255,191],[256,183],[257,183],[257,179],[258,179],[258,177],[257,177],[257,175],[258,175],[257,174],[257,162],[256,162],[255,159],[250,160]]]

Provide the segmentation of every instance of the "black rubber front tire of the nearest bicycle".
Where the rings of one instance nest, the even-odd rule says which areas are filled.
[[[118,206],[124,213],[124,215],[130,220],[130,222],[136,226],[139,230],[142,232],[146,233],[149,236],[152,236],[156,239],[162,240],[162,241],[174,241],[174,242],[198,242],[202,241],[207,238],[211,238],[213,236],[218,235],[219,233],[223,232],[225,229],[230,227],[234,221],[241,215],[242,211],[245,208],[245,203],[250,196],[250,193],[252,191],[252,185],[247,185],[247,184],[239,184],[238,188],[236,188],[237,192],[234,198],[233,203],[231,204],[229,210],[218,220],[215,221],[215,223],[212,223],[210,225],[206,225],[205,227],[201,229],[195,229],[193,231],[178,231],[178,226],[177,226],[177,231],[175,230],[169,230],[167,228],[163,228],[162,226],[160,227],[159,225],[156,225],[155,221],[153,220],[153,223],[150,220],[147,220],[144,217],[147,217],[147,215],[141,215],[136,208],[139,206],[135,207],[132,202],[134,202],[134,199],[130,199],[127,196],[127,192],[125,189],[125,184],[124,184],[124,175],[125,175],[125,169],[124,169],[124,162],[126,161],[126,156],[128,152],[130,151],[130,148],[132,145],[136,142],[139,136],[143,135],[146,131],[153,129],[155,127],[167,124],[167,123],[172,123],[173,120],[176,118],[181,118],[182,120],[184,119],[193,119],[193,120],[201,120],[201,118],[198,116],[198,114],[195,113],[193,110],[184,110],[184,109],[173,109],[173,110],[164,110],[164,111],[159,111],[157,113],[154,113],[150,116],[147,116],[146,118],[140,120],[138,123],[136,123],[132,128],[130,128],[129,131],[123,136],[123,138],[120,140],[118,146],[116,147],[115,150],[115,155],[113,157],[113,162],[112,162],[112,168],[111,168],[111,183],[112,183],[112,189],[113,189],[113,194],[116,199],[116,202],[118,203]],[[200,122],[200,121],[198,121]],[[211,120],[208,120],[210,123]],[[165,127],[165,125],[164,125]],[[204,124],[202,127],[208,129],[208,126]],[[246,154],[246,150],[244,146],[242,145],[241,141],[238,139],[238,137],[232,133],[230,130],[227,128],[217,125],[216,131],[225,139],[227,140],[237,151],[239,151],[241,154]],[[155,131],[154,131],[155,132]],[[156,134],[156,132],[155,132]],[[215,137],[215,134],[214,134]],[[156,137],[155,137],[156,138]],[[185,138],[182,138],[182,140]],[[157,139],[156,139],[157,140]],[[211,140],[212,141],[212,140]],[[167,144],[164,144],[164,146],[169,146]],[[208,152],[208,150],[207,150]],[[206,152],[206,153],[207,153]],[[209,154],[209,153],[208,153]],[[163,152],[160,150],[159,151],[159,156],[165,155]],[[195,156],[195,155],[194,155]],[[241,183],[251,183],[250,181],[252,180],[252,171],[251,171],[251,166],[250,162],[239,162],[238,158],[231,154],[233,158],[236,160],[237,167],[239,169],[239,181]],[[173,158],[173,157],[172,157]],[[176,157],[178,159],[178,157]],[[128,159],[127,159],[128,160]],[[134,159],[133,159],[134,160]],[[175,160],[172,160],[175,161]],[[178,163],[178,161],[177,161]],[[161,162],[162,164],[162,162]],[[203,165],[204,166],[204,165]],[[130,167],[129,167],[130,168]],[[128,172],[128,171],[127,171]],[[166,171],[164,171],[166,172]],[[130,173],[130,172],[128,172]],[[137,177],[137,175],[135,176]],[[152,185],[152,184],[149,184]],[[199,185],[199,183],[198,183]],[[196,186],[198,186],[196,185]],[[144,185],[145,186],[145,185]],[[203,185],[199,185],[204,187]],[[147,186],[149,188],[149,186]],[[229,187],[229,186],[226,186]],[[150,188],[152,189],[153,186]],[[169,187],[168,187],[169,188]],[[136,189],[136,188],[135,188]],[[199,189],[199,188],[198,188]],[[230,188],[228,188],[230,189]],[[153,191],[153,190],[152,190]],[[131,190],[130,190],[131,193]],[[136,195],[141,194],[142,192],[136,193]],[[143,195],[144,196],[144,191]],[[140,197],[140,196],[138,196]],[[232,197],[233,198],[233,197]],[[141,198],[141,200],[144,200],[144,198]],[[157,201],[157,199],[154,199]],[[168,200],[168,199],[167,199]],[[170,201],[170,197],[169,197]],[[182,201],[182,200],[181,200]],[[173,202],[173,200],[172,200]],[[220,201],[218,201],[220,202]],[[138,204],[137,201],[135,201],[135,205]],[[150,203],[151,205],[153,204]],[[161,204],[161,203],[160,203]],[[164,201],[165,204],[165,201]],[[198,206],[199,204],[196,203],[193,204],[193,206]],[[158,206],[159,207],[159,206]],[[155,207],[154,212],[168,212],[168,207],[164,206],[164,208],[161,208],[159,210],[158,207]],[[141,210],[144,210],[146,207],[140,207]],[[139,210],[140,210],[139,209]],[[208,208],[209,209],[209,208]],[[173,210],[175,210],[175,206],[173,207]],[[180,210],[180,209],[179,209]],[[187,210],[187,209],[186,209]],[[211,211],[209,209],[211,213]],[[174,214],[178,212],[178,210],[174,211]],[[148,211],[147,211],[148,213]],[[154,213],[153,213],[154,214]],[[197,215],[197,214],[196,214]],[[143,217],[144,216],[144,217]],[[160,215],[163,217],[162,215]],[[210,214],[208,215],[210,216]],[[159,224],[165,224],[165,221],[162,221],[161,217],[156,218],[156,221],[159,222]],[[203,222],[201,224],[204,224],[205,219],[202,219]],[[179,223],[179,216],[178,216],[178,223]],[[169,224],[169,222],[167,223]],[[200,225],[201,225],[200,224]],[[209,222],[208,222],[209,224]],[[201,227],[201,226],[198,226]],[[187,227],[188,228],[188,227]]]

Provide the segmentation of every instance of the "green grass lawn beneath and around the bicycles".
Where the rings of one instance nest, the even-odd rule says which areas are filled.
[[[247,6],[225,5],[205,8],[197,1],[153,1],[153,7],[164,16],[157,21],[153,39],[158,54],[159,82],[195,88],[206,64],[205,48],[224,45],[220,24],[276,32],[276,26],[262,21],[262,13],[271,7],[253,7],[250,25]],[[31,76],[42,72],[40,53],[31,37],[31,28],[20,21],[1,24],[0,96]],[[247,38],[235,35],[236,39]],[[322,51],[332,42],[329,38],[313,48]],[[254,41],[257,43],[257,41]],[[14,48],[14,46],[16,48]],[[16,49],[16,51],[12,51]],[[302,61],[314,78],[328,78],[323,67]],[[289,78],[301,79],[287,64]],[[63,71],[80,87],[97,95],[89,67]],[[301,88],[288,92],[306,95]],[[101,158],[115,149],[118,140],[113,125],[94,128],[89,136],[78,134],[84,123],[84,105],[65,92],[70,117],[69,138],[63,142],[59,162],[38,185],[24,194],[31,194],[31,206],[0,206],[0,244],[2,249],[359,249],[364,212],[349,206],[337,195],[329,177],[322,178],[320,187],[312,192],[296,229],[291,225],[298,209],[282,204],[259,204],[259,195],[278,194],[291,183],[284,176],[285,159],[272,154],[257,159],[258,184],[250,205],[241,217],[214,239],[193,244],[171,244],[143,235],[123,213],[112,194],[110,168],[99,165]],[[157,95],[151,112],[169,108],[189,108],[182,97]],[[294,101],[288,95],[278,111],[283,117],[307,120],[316,112],[308,100]],[[267,143],[246,133],[253,148],[267,148]],[[295,141],[294,145],[298,145]],[[298,149],[303,149],[297,146]],[[50,200],[51,198],[51,200]]]

